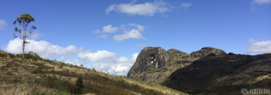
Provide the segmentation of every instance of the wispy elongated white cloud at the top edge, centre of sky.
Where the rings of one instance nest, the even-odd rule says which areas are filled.
[[[129,4],[119,4],[111,5],[106,9],[106,14],[111,11],[118,13],[125,13],[130,16],[140,15],[140,16],[153,16],[155,13],[165,13],[170,10],[170,4],[165,1],[154,1],[153,3],[135,4],[131,2]]]

